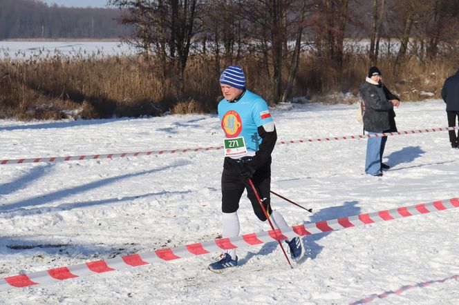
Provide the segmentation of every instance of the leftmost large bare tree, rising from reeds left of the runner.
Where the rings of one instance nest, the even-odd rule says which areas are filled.
[[[109,0],[122,10],[120,22],[135,28],[131,43],[160,57],[164,75],[177,77],[182,90],[191,39],[196,29],[197,0]]]

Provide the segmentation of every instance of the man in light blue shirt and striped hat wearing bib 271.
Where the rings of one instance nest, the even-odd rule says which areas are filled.
[[[218,117],[225,132],[225,161],[221,176],[223,237],[239,235],[237,210],[244,189],[256,217],[267,222],[249,179],[252,179],[274,228],[288,228],[281,213],[270,206],[271,153],[277,132],[268,104],[245,88],[245,75],[239,66],[229,66],[223,71],[220,84],[224,99],[218,104]],[[287,244],[292,259],[299,259],[299,237],[294,237]],[[223,253],[218,262],[210,264],[209,269],[221,273],[237,264],[236,249],[232,249]]]

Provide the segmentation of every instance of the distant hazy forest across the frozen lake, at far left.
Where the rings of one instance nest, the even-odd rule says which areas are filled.
[[[65,8],[36,0],[0,1],[1,39],[101,39],[130,34],[106,8]]]

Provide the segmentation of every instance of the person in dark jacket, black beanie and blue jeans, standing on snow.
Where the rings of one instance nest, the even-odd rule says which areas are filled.
[[[381,81],[381,71],[377,67],[368,70],[368,77],[360,85],[360,96],[364,102],[364,129],[368,134],[395,132],[395,112],[400,99],[391,93]],[[390,166],[382,163],[387,137],[370,137],[366,145],[365,173],[382,176],[382,169]]]

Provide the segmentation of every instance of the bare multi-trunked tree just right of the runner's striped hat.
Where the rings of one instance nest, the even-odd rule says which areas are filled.
[[[299,66],[306,12],[311,0],[243,1],[250,49],[260,54],[265,75],[272,80],[272,101],[289,98]],[[289,41],[295,41],[291,46]],[[288,68],[284,83],[283,70]]]

